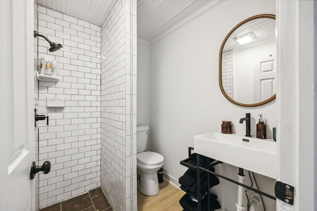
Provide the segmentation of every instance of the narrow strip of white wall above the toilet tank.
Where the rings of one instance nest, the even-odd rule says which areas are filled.
[[[138,39],[137,125],[150,124],[150,43]]]

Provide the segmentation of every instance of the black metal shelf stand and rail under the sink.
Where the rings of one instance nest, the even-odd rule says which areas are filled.
[[[225,180],[228,180],[228,181],[233,182],[233,183],[235,183],[235,184],[237,184],[237,185],[241,185],[242,187],[245,187],[245,188],[247,188],[247,189],[249,189],[249,190],[252,190],[252,191],[254,191],[254,192],[257,192],[257,193],[259,193],[259,194],[261,194],[261,195],[263,195],[263,196],[266,196],[266,197],[268,197],[268,198],[270,198],[270,199],[276,200],[276,198],[275,198],[274,196],[271,196],[271,195],[269,195],[269,194],[267,194],[267,193],[264,193],[264,192],[262,192],[262,191],[260,191],[260,190],[255,189],[255,188],[253,188],[253,187],[250,187],[250,186],[245,185],[245,184],[243,184],[243,183],[237,182],[237,181],[235,181],[235,180],[233,180],[233,179],[230,179],[230,178],[228,178],[228,177],[225,177],[225,176],[223,176],[223,175],[221,175],[221,174],[218,174],[218,173],[215,173],[215,172],[209,170],[209,168],[211,168],[211,167],[214,167],[214,166],[216,166],[216,165],[218,165],[218,164],[222,164],[221,161],[215,161],[214,159],[209,158],[209,159],[211,159],[213,162],[211,162],[211,163],[208,162],[208,165],[206,165],[206,166],[204,165],[204,167],[202,167],[201,164],[200,164],[200,157],[201,157],[202,155],[197,154],[197,160],[194,160],[194,159],[191,158],[192,150],[194,150],[193,147],[188,147],[188,157],[189,157],[189,158],[182,160],[182,161],[180,162],[180,164],[183,165],[183,166],[185,166],[185,167],[187,167],[187,168],[189,168],[189,169],[195,170],[195,171],[197,172],[197,196],[194,196],[194,197],[197,198],[197,201],[198,201],[198,202],[197,202],[197,206],[198,206],[197,209],[198,209],[198,211],[201,211],[201,207],[202,207],[202,204],[201,204],[201,203],[202,203],[202,202],[201,202],[201,201],[202,201],[202,200],[201,200],[201,170],[206,171],[207,174],[208,174],[208,175],[207,175],[208,190],[210,189],[210,176],[209,176],[209,174],[211,173],[211,174],[213,174],[213,175],[215,175],[215,176],[221,177],[221,178],[223,178],[223,179],[225,179]],[[204,156],[204,157],[205,157],[205,156]],[[210,206],[210,191],[207,191],[207,196],[208,196],[208,210],[211,211],[211,206]]]

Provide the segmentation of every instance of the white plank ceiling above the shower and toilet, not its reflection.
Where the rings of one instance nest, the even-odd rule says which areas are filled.
[[[138,37],[152,41],[204,7],[223,0],[137,0]],[[116,0],[38,0],[38,4],[102,26]],[[207,9],[207,10],[208,10]],[[206,10],[206,11],[207,11]]]

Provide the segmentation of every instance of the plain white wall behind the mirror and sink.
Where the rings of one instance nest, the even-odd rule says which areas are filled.
[[[275,1],[224,1],[151,44],[150,144],[152,151],[164,156],[164,171],[172,178],[178,180],[185,172],[179,162],[187,158],[193,136],[219,131],[221,120],[232,121],[234,131],[245,134],[245,124],[239,124],[239,119],[250,112],[251,134],[255,136],[257,115],[263,114],[271,137],[271,128],[276,127],[275,100],[259,107],[240,107],[222,95],[218,84],[218,56],[224,37],[242,20],[264,13],[275,14]],[[238,172],[225,164],[216,170],[233,179]],[[260,188],[273,195],[274,180],[257,178]],[[221,180],[213,190],[223,208],[235,210],[237,185]],[[264,197],[264,202],[266,210],[275,210],[275,201]]]

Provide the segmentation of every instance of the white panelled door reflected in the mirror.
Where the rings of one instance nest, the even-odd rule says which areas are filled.
[[[254,60],[253,102],[262,102],[275,94],[275,54]]]

